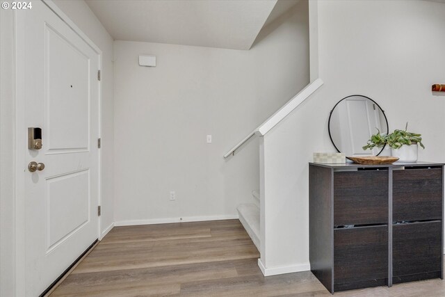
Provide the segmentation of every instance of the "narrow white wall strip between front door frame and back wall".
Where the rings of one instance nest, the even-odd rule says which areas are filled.
[[[85,1],[55,0],[54,3],[102,50],[102,216],[101,230],[114,222],[113,162],[113,38],[104,29]]]

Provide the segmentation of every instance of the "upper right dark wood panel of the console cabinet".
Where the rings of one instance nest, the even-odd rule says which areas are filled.
[[[394,170],[393,220],[442,220],[442,168]]]

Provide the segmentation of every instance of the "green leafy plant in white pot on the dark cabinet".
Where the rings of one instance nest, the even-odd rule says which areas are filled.
[[[372,150],[374,147],[383,147],[388,144],[391,147],[391,155],[398,157],[401,162],[415,162],[417,161],[418,145],[422,148],[425,146],[422,143],[421,134],[407,131],[408,123],[406,123],[405,130],[394,130],[391,134],[378,133],[371,136],[368,143],[364,145],[363,150]]]

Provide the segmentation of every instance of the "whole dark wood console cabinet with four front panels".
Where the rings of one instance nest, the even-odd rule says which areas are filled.
[[[309,261],[331,292],[444,278],[444,164],[309,163]]]

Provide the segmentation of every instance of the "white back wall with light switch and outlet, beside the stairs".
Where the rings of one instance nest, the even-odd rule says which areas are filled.
[[[250,51],[115,41],[117,223],[236,216],[259,188],[258,140],[223,154],[309,82],[308,35],[302,1]]]

